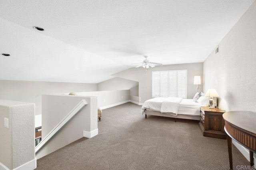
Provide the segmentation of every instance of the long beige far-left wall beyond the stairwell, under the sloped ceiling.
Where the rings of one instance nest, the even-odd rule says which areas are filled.
[[[42,94],[97,91],[97,84],[0,80],[0,99],[36,104],[36,115],[42,113]]]

